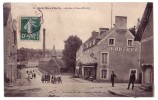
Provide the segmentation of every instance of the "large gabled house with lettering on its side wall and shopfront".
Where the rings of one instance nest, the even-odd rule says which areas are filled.
[[[128,82],[131,73],[139,81],[140,43],[127,29],[127,17],[116,16],[115,27],[100,28],[80,47],[76,54],[76,73],[79,77],[110,81],[111,71],[117,82]]]

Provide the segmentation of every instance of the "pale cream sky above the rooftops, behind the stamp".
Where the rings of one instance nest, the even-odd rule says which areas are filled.
[[[46,29],[46,49],[64,49],[64,41],[71,35],[77,35],[85,42],[92,31],[99,28],[111,27],[115,16],[127,16],[127,28],[137,24],[141,18],[146,3],[12,3],[12,17],[17,20],[18,48],[42,49],[43,28]],[[35,8],[39,7],[43,12],[44,23],[40,29],[40,40],[20,40],[19,24],[21,16],[40,16]],[[53,9],[42,9],[53,8]],[[70,9],[74,8],[74,9]],[[77,9],[80,8],[80,9]],[[54,41],[55,40],[55,41]]]

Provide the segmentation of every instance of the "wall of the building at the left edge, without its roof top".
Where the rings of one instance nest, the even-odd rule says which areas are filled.
[[[16,29],[13,29],[15,24],[9,13],[7,24],[4,26],[4,74],[12,82],[17,78],[17,37]]]

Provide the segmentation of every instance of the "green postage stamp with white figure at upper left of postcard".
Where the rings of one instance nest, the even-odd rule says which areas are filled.
[[[40,18],[39,17],[21,17],[20,19],[20,39],[21,40],[39,40]]]

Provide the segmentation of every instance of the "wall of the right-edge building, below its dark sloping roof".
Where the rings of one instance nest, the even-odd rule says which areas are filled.
[[[141,40],[141,66],[152,65],[151,68],[143,70],[143,85],[150,84],[153,86],[154,81],[154,54],[153,54],[153,11],[150,14],[147,26],[145,27]]]

